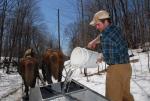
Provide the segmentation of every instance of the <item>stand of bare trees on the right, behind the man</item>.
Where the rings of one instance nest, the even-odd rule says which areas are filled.
[[[129,43],[129,47],[137,48],[139,44],[144,44],[150,40],[150,2],[149,0],[83,0],[84,19],[82,18],[82,5],[79,0],[77,3],[78,27],[79,34],[77,40],[82,40],[86,37],[86,44],[89,40],[95,37],[98,32],[94,31],[89,26],[94,13],[100,9],[105,9],[111,13],[112,22],[120,26],[124,32],[124,36]],[[84,20],[84,33],[82,33],[82,20]],[[71,30],[71,29],[70,29]],[[86,35],[86,36],[85,36]],[[79,46],[82,43],[79,41]]]

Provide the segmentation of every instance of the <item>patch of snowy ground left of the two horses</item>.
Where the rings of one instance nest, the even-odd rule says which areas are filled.
[[[6,74],[0,70],[0,101],[17,101],[19,96],[9,96],[22,86],[22,80],[18,73]],[[21,93],[20,93],[21,94]],[[6,99],[7,97],[10,99]]]

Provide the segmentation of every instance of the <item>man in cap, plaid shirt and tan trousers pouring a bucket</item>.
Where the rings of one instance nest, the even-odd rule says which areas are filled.
[[[88,48],[102,45],[103,60],[109,65],[106,74],[106,97],[111,101],[134,101],[130,93],[130,79],[132,74],[129,63],[127,42],[124,40],[121,29],[112,25],[107,11],[97,12],[90,25],[101,32],[89,42]],[[98,59],[99,62],[102,59]]]

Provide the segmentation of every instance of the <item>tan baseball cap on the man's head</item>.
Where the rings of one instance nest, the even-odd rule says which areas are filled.
[[[109,13],[105,10],[100,10],[97,13],[95,13],[93,20],[90,22],[90,25],[95,26],[99,20],[106,18],[110,18]]]

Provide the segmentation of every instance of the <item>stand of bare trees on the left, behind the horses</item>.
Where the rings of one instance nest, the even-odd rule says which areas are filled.
[[[0,55],[4,53],[10,61],[13,56],[21,58],[29,47],[38,51],[48,47],[44,44],[48,41],[44,41],[46,33],[41,26],[37,3],[38,0],[0,1]]]

